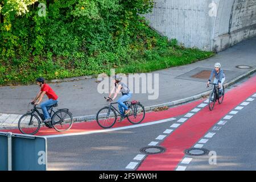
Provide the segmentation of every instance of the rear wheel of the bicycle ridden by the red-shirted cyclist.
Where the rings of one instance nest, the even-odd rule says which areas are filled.
[[[52,116],[52,127],[59,132],[71,129],[73,124],[72,114],[67,110],[58,110]]]

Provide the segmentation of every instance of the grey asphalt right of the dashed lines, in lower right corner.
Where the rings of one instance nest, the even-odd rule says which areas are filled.
[[[256,97],[204,144],[203,148],[216,152],[216,163],[209,164],[209,155],[195,156],[186,170],[255,171],[255,131]]]

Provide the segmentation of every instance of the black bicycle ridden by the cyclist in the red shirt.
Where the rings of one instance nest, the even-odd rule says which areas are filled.
[[[33,103],[30,103],[34,105]],[[51,117],[50,122],[43,122],[44,115],[39,112],[38,109],[40,107],[36,107],[31,109],[28,113],[22,115],[18,122],[19,131],[23,134],[34,135],[40,129],[42,123],[48,128],[54,128],[56,131],[63,132],[71,129],[73,124],[72,113],[68,109],[57,109],[57,111],[53,110],[53,107],[57,107],[58,105],[52,105],[49,108],[49,115]]]

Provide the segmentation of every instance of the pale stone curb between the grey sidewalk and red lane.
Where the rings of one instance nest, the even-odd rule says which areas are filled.
[[[243,78],[245,78],[247,76],[252,75],[255,72],[256,72],[256,68],[251,69],[250,71],[248,71],[246,73],[243,73],[242,75],[234,78],[233,80],[231,80],[229,82],[226,82],[224,84],[224,88],[227,88],[228,86],[236,84],[236,82],[242,80]],[[172,101],[172,102],[166,102],[166,103],[158,104],[158,105],[146,106],[144,108],[145,108],[146,111],[152,111],[152,110],[154,110],[157,107],[164,107],[164,106],[170,107],[170,106],[176,106],[176,105],[180,105],[180,104],[185,104],[187,102],[199,100],[200,98],[209,96],[210,92],[212,92],[212,90],[208,90],[206,92],[195,94],[195,95],[190,96],[190,97],[181,98],[180,100],[176,100],[176,101]],[[96,114],[93,114],[93,115],[83,115],[83,116],[80,116],[80,117],[75,117],[73,119],[74,119],[75,122],[90,121],[90,120],[96,119]]]

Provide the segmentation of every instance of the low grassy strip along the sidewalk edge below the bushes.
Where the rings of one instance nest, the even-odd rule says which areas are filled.
[[[126,63],[122,61],[119,64],[102,64],[102,61],[97,60],[95,57],[74,61],[63,57],[43,59],[42,57],[35,56],[34,59],[24,60],[22,67],[20,65],[11,67],[10,63],[5,65],[4,63],[6,62],[0,60],[0,85],[28,85],[34,83],[35,79],[39,76],[45,77],[47,80],[53,80],[56,78],[97,75],[100,73],[110,75],[111,68],[115,68],[115,73],[148,73],[160,69],[192,64],[213,55],[213,52],[205,52],[199,49],[168,47],[168,49],[152,49],[144,53],[134,53],[129,55],[130,57],[128,56],[130,60],[127,59]],[[14,60],[10,62],[13,63]]]

